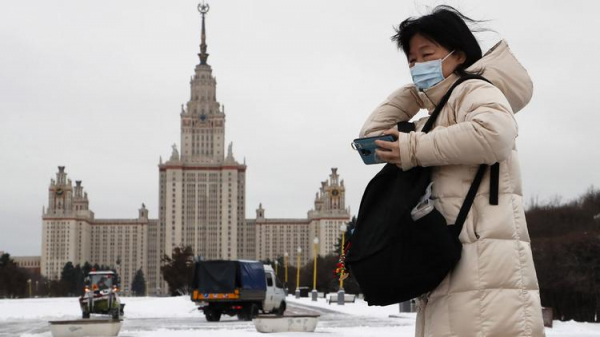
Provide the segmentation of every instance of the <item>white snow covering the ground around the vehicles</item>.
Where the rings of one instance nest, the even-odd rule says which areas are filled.
[[[288,297],[287,314],[317,313],[315,333],[347,337],[408,337],[414,335],[415,314],[400,314],[397,305],[369,307],[364,301],[338,306],[323,299]],[[223,316],[207,322],[189,297],[124,298],[125,321],[119,336],[129,337],[232,337],[263,336],[251,322]],[[81,315],[75,298],[0,300],[0,336],[50,337],[48,321],[77,319]],[[391,317],[392,316],[392,317]],[[554,322],[548,337],[600,336],[600,324]],[[306,337],[312,333],[280,333]]]

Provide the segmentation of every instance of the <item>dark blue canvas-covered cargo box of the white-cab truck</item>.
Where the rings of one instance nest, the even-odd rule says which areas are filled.
[[[267,283],[257,261],[198,261],[192,281],[193,300],[263,300]]]

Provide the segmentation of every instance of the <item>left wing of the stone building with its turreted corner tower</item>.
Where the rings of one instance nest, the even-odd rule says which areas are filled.
[[[157,224],[143,204],[137,219],[96,219],[81,181],[73,186],[60,166],[42,215],[41,273],[58,280],[67,262],[88,262],[116,269],[128,287],[138,269],[148,274],[148,231]]]

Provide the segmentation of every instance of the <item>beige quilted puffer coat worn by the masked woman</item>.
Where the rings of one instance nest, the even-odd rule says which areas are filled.
[[[468,70],[481,80],[459,85],[430,133],[400,134],[402,169],[434,166],[435,207],[453,224],[479,164],[500,163],[499,204],[489,203],[489,171],[460,234],[462,258],[431,293],[418,300],[418,337],[544,336],[539,287],[525,212],[513,113],[531,99],[527,71],[501,41]],[[368,118],[361,137],[373,136],[429,112],[458,77],[419,92],[395,91]],[[417,130],[426,118],[417,122]]]

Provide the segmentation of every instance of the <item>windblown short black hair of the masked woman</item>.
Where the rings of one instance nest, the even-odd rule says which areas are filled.
[[[418,18],[408,18],[395,28],[396,34],[392,36],[392,41],[396,42],[399,49],[408,56],[410,50],[410,40],[416,34],[437,43],[449,51],[462,51],[466,60],[456,68],[458,75],[467,74],[468,67],[477,62],[481,57],[481,47],[475,39],[473,32],[483,31],[483,29],[471,30],[467,26],[478,24],[482,21],[473,20],[452,6],[440,5],[433,9],[431,14],[423,15]]]

